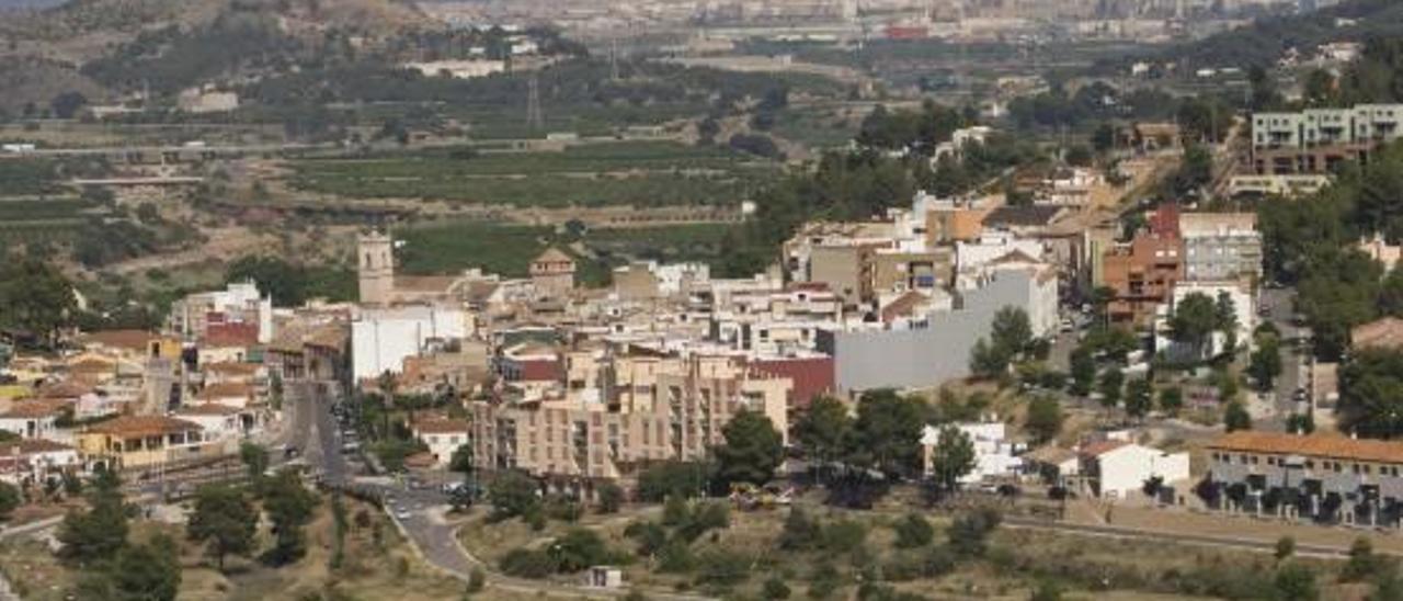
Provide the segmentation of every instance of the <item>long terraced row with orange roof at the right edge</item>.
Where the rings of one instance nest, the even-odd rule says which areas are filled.
[[[1389,527],[1403,517],[1403,442],[1244,430],[1207,451],[1214,507]]]

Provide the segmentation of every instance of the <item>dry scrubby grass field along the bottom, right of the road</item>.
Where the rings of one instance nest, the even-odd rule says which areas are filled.
[[[927,520],[934,536],[926,543],[902,546],[897,524],[912,510]],[[624,580],[645,594],[678,590],[721,598],[763,598],[770,579],[783,581],[791,590],[790,598],[853,598],[854,593],[868,598],[859,590],[864,583],[875,583],[920,598],[1027,600],[1041,583],[1054,583],[1068,600],[1148,601],[1271,598],[1273,573],[1278,569],[1278,562],[1266,553],[1007,527],[995,529],[984,550],[975,552],[948,542],[951,513],[922,510],[916,504],[892,504],[881,511],[811,506],[808,515],[818,518],[825,532],[825,542],[817,549],[780,545],[786,510],[732,510],[728,527],[690,542],[692,559],[673,563],[690,567],[665,567],[668,552],[634,555],[623,564]],[[626,535],[629,524],[658,518],[657,506],[634,507],[619,515],[591,513],[578,524],[550,521],[543,531],[533,531],[521,520],[492,524],[476,517],[460,536],[470,552],[492,564],[512,549],[542,548],[581,527],[596,532],[612,550],[627,553],[638,548],[638,541]],[[1338,562],[1303,557],[1289,562],[1316,574],[1319,598],[1362,598],[1361,586],[1337,583]],[[815,590],[819,580],[832,588]]]

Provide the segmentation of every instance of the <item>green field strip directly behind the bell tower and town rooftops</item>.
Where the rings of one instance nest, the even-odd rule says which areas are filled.
[[[609,268],[630,260],[710,263],[721,253],[731,227],[699,223],[589,230],[578,240],[593,256],[582,260],[581,277],[605,284],[603,274]],[[422,225],[397,230],[396,236],[404,240],[400,264],[410,274],[452,274],[481,267],[505,277],[523,277],[530,260],[547,246],[574,246],[574,240],[551,227],[485,222]]]

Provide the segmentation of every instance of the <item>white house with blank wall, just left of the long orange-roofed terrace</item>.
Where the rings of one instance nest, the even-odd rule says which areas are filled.
[[[1087,493],[1100,498],[1127,498],[1145,489],[1152,477],[1170,484],[1188,480],[1188,454],[1169,454],[1125,441],[1101,441],[1078,452]]]

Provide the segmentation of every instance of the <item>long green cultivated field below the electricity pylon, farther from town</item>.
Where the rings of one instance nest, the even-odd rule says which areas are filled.
[[[348,198],[425,198],[516,206],[734,204],[776,173],[724,149],[619,143],[560,153],[442,152],[293,161],[292,185]]]

